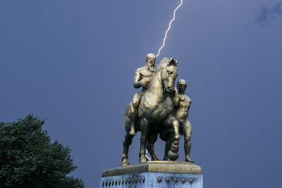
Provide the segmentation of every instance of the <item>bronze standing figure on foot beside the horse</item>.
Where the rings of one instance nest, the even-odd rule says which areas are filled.
[[[194,162],[189,158],[191,150],[192,126],[189,121],[188,111],[190,109],[190,104],[192,101],[187,95],[185,95],[186,87],[187,83],[185,80],[178,80],[177,89],[179,96],[179,105],[175,107],[174,117],[176,118],[178,123],[180,123],[180,130],[184,135],[185,161]]]

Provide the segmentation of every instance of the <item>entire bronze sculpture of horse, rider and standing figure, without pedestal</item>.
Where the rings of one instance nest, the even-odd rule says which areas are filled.
[[[129,165],[128,148],[137,131],[141,132],[139,162],[146,163],[145,149],[152,156],[152,161],[160,161],[154,149],[158,134],[166,141],[164,160],[175,161],[179,154],[180,132],[185,137],[185,161],[192,162],[190,156],[191,125],[188,110],[191,100],[185,95],[187,84],[179,80],[178,61],[174,58],[163,58],[155,68],[156,56],[147,54],[146,64],[137,68],[134,87],[142,87],[141,92],[133,96],[125,109],[125,137],[121,165]]]

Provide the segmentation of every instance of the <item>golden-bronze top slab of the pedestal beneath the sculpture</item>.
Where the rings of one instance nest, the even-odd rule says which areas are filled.
[[[149,161],[147,163],[125,165],[104,170],[102,177],[146,172],[201,174],[202,169],[199,165],[183,161]],[[176,182],[177,180],[173,181]]]

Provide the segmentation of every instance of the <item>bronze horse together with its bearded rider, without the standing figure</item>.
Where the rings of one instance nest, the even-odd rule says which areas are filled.
[[[152,161],[160,160],[154,150],[154,143],[157,141],[161,127],[164,125],[168,127],[176,125],[176,118],[173,116],[173,106],[176,105],[174,104],[176,100],[174,100],[171,95],[176,94],[174,85],[176,77],[178,76],[178,62],[174,58],[163,58],[158,63],[157,70],[152,74],[154,61],[154,54],[148,54],[146,66],[137,69],[135,73],[134,85],[139,87],[144,86],[142,92],[135,94],[135,96],[138,97],[134,96],[133,101],[131,101],[125,109],[124,120],[126,134],[123,141],[121,165],[129,165],[128,147],[132,142],[136,130],[141,132],[139,161],[140,163],[145,163],[147,162],[145,156],[146,147],[152,156]],[[152,63],[148,65],[149,62]],[[144,70],[144,73],[142,73],[142,70]],[[145,76],[145,73],[147,76]],[[136,77],[138,79],[136,79]],[[150,78],[148,79],[148,77]],[[146,81],[145,84],[142,84],[142,80]],[[135,105],[135,101],[137,101],[137,106]],[[136,112],[137,117],[135,116]],[[178,141],[179,133],[176,132],[175,142],[173,142],[173,144],[178,146]],[[176,150],[171,152],[173,153],[173,157],[168,156],[172,160],[175,160],[178,155],[178,148]]]

